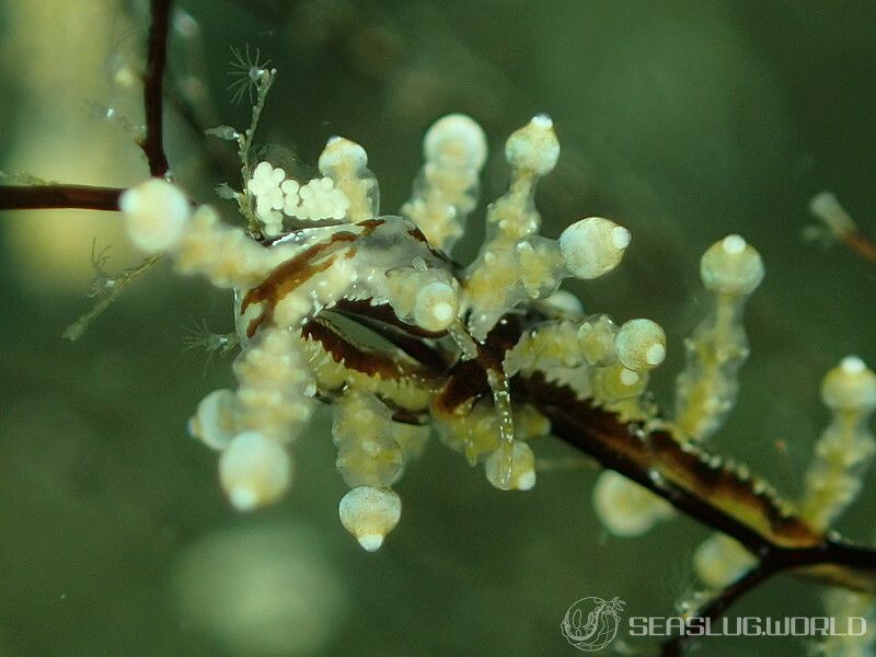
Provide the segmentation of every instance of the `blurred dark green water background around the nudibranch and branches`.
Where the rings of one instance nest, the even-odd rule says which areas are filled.
[[[129,185],[147,175],[130,136],[142,2],[0,2],[0,162],[44,178]],[[589,215],[633,232],[624,265],[573,285],[588,310],[649,316],[669,335],[655,377],[664,405],[681,341],[702,313],[696,263],[739,232],[766,279],[749,313],[753,356],[715,448],[794,495],[826,413],[822,373],[876,361],[873,269],[800,234],[831,189],[876,231],[873,2],[178,2],[168,78],[168,150],[199,200],[238,185],[233,152],[193,128],[243,127],[226,90],[230,46],[279,77],[260,138],[307,172],[325,139],[362,143],[393,212],[438,116],[482,122],[483,196],[503,192],[505,137],[549,113],[563,145],[539,188],[543,232]],[[116,117],[106,118],[107,107]],[[228,205],[228,204],[226,204]],[[229,210],[228,218],[233,220]],[[466,260],[483,234],[472,219]],[[618,596],[634,615],[673,613],[707,535],[678,518],[607,535],[597,471],[552,469],[527,494],[494,491],[440,445],[410,466],[404,514],[377,554],[341,528],[321,412],[297,448],[292,492],[240,516],[216,456],[186,436],[229,360],[183,351],[186,326],[231,330],[228,295],[166,268],[137,281],[78,343],[64,327],[92,303],[92,240],[107,268],[136,262],[111,214],[7,212],[0,229],[0,656],[576,655],[560,621],[578,598]],[[542,441],[546,465],[574,457]],[[876,481],[869,481],[872,491]],[[867,493],[842,521],[873,538]],[[817,614],[819,589],[782,577],[746,614]],[[653,645],[623,642],[627,654]],[[783,639],[713,641],[705,655],[797,655]],[[608,650],[607,650],[608,652]]]

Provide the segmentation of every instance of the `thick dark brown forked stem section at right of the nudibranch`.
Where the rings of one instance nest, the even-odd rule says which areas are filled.
[[[616,415],[578,400],[563,387],[534,376],[516,380],[517,392],[551,420],[561,440],[603,466],[645,486],[678,510],[744,544],[757,565],[715,595],[688,626],[717,619],[772,575],[785,570],[832,586],[876,590],[876,551],[828,538],[784,509],[754,481],[699,449],[683,448],[662,430],[622,423]],[[687,633],[662,647],[664,657],[681,654]]]

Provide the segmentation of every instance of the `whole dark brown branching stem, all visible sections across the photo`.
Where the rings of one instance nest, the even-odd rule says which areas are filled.
[[[169,171],[163,147],[162,85],[166,62],[170,0],[152,0],[148,61],[143,76],[146,136],[141,148],[153,176]],[[118,209],[123,189],[79,185],[0,186],[0,209],[83,208]],[[436,346],[440,335],[424,335],[399,321],[388,307],[342,302],[335,312],[381,334],[417,364],[400,366],[379,353],[364,350],[325,318],[314,318],[303,328],[338,360],[366,373],[416,376],[433,384],[442,382],[437,405],[450,411],[488,394],[486,371],[502,362],[505,349],[516,342],[526,318],[508,316],[479,347],[473,360],[450,362]],[[436,384],[437,385],[437,384]],[[758,565],[719,591],[695,618],[715,619],[734,602],[771,576],[795,570],[823,583],[856,590],[876,591],[876,550],[860,548],[828,537],[807,525],[761,482],[737,466],[721,462],[698,448],[679,445],[662,429],[626,424],[616,415],[578,399],[567,388],[544,376],[518,376],[511,381],[517,400],[528,402],[550,420],[552,433],[668,500],[677,509],[744,544],[758,557]],[[422,417],[397,417],[424,422]],[[655,425],[657,426],[657,425]],[[685,636],[664,646],[666,656],[679,655]]]

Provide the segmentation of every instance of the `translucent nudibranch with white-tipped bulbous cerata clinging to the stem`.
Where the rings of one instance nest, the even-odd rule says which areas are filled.
[[[380,215],[365,149],[337,137],[319,159],[320,178],[297,181],[269,162],[250,172],[238,196],[261,242],[222,224],[209,206],[192,208],[171,183],[151,180],[124,194],[135,244],[234,291],[238,389],[208,394],[189,422],[221,452],[232,505],[249,510],[286,491],[291,449],[318,401],[332,403],[336,465],[350,487],[342,523],[367,550],[397,523],[393,486],[433,428],[470,463],[483,463],[493,485],[535,484],[528,442],[550,425],[512,403],[517,374],[541,371],[598,404],[647,417],[647,373],[666,351],[660,327],[634,320],[619,330],[558,291],[565,278],[616,267],[630,232],[589,217],[557,240],[538,233],[535,184],[560,154],[546,116],[514,132],[505,153],[509,191],[487,208],[487,238],[468,267],[450,251],[477,205],[487,145],[459,114],[427,131],[426,162],[401,216]]]

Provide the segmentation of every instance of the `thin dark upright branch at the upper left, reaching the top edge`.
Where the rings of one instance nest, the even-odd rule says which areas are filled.
[[[168,61],[168,28],[170,0],[152,0],[152,24],[149,26],[146,72],[143,74],[143,106],[146,108],[146,136],[140,147],[149,162],[149,173],[162,177],[168,173],[168,155],[163,145],[162,103],[164,67]]]

